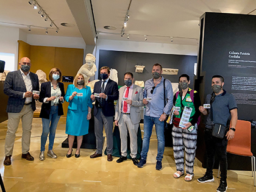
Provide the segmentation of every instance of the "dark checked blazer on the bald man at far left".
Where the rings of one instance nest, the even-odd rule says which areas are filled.
[[[39,91],[38,76],[35,73],[29,73],[32,88],[34,91]],[[23,93],[27,92],[21,71],[12,71],[7,74],[4,82],[4,93],[9,96],[6,112],[20,113],[26,98],[23,98]],[[32,97],[32,110],[35,110],[35,99]]]

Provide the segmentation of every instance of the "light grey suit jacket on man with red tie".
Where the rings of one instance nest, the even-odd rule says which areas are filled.
[[[116,104],[116,112],[115,112],[115,120],[120,119],[121,116],[121,106],[122,106],[122,98],[124,94],[124,90],[126,86],[123,86],[119,89],[119,98]],[[130,106],[130,120],[133,124],[140,123],[140,107],[143,106],[143,88],[138,85],[133,84],[132,91],[132,105]]]

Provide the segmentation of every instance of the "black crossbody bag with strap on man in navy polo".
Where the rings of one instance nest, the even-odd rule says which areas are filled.
[[[211,104],[211,121],[213,122],[213,109],[212,109],[212,103],[215,100],[216,94],[212,93],[212,98],[210,100],[210,104]],[[229,128],[229,125],[222,125],[219,123],[215,123],[212,126],[212,135],[213,137],[217,137],[217,138],[224,138],[225,134],[226,134],[226,130]]]

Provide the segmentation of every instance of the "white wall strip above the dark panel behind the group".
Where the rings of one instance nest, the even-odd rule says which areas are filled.
[[[147,52],[156,54],[197,55],[198,46],[170,43],[149,43],[137,41],[97,40],[96,66],[99,66],[99,50]],[[98,73],[95,74],[98,79]]]

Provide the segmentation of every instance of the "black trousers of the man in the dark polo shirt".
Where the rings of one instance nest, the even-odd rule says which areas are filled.
[[[204,140],[207,155],[206,175],[213,175],[213,166],[215,163],[215,153],[218,155],[221,169],[221,180],[227,180],[227,137],[216,138],[212,136],[212,129],[205,128]]]

